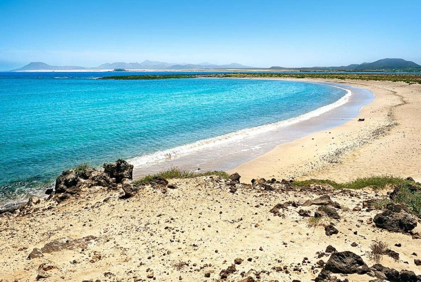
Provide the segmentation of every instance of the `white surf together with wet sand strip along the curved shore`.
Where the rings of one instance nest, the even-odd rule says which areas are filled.
[[[291,80],[277,78],[268,79]],[[195,170],[198,168],[205,170],[233,169],[241,163],[250,161],[269,150],[272,150],[278,144],[301,138],[303,136],[303,130],[307,130],[308,132],[304,134],[308,135],[313,132],[314,128],[320,129],[322,127],[321,124],[324,123],[324,118],[327,120],[333,120],[335,123],[333,126],[342,124],[346,120],[354,118],[357,115],[359,108],[362,105],[369,103],[373,98],[371,93],[371,96],[368,98],[359,98],[364,95],[361,95],[360,90],[356,87],[345,88],[337,83],[332,84],[331,82],[317,82],[301,79],[293,79],[293,81],[328,85],[330,87],[343,89],[347,93],[333,103],[288,120],[278,121],[272,124],[266,124],[253,128],[240,129],[236,132],[223,134],[206,140],[200,140],[150,155],[133,158],[129,161],[135,166],[133,172],[134,177],[139,178],[146,174],[153,174],[173,166],[183,167],[188,170]],[[357,95],[354,95],[356,92],[358,92]],[[351,100],[353,103],[349,103],[350,98],[352,98]],[[345,107],[344,111],[341,111],[341,107]],[[333,111],[337,111],[337,115],[333,114]],[[327,113],[329,114],[325,117]],[[317,124],[315,121],[316,119],[318,120],[317,122],[321,124]],[[303,126],[296,130],[297,134],[295,134],[295,136],[292,136],[294,134],[290,134],[290,132],[285,132],[290,127],[300,127],[299,124],[303,124]],[[331,126],[332,125],[329,125],[329,127]],[[305,129],[305,127],[307,128]],[[285,138],[282,136],[283,134],[285,135]],[[244,144],[241,144],[241,146],[235,145],[235,142]],[[212,155],[213,158],[210,158],[209,155]],[[153,158],[154,162],[147,163],[150,158]]]

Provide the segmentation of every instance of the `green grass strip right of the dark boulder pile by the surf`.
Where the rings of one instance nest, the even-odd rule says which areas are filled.
[[[210,175],[218,175],[222,178],[228,178],[229,174],[225,171],[205,171],[205,172],[192,172],[188,171],[187,169],[180,169],[179,167],[175,166],[170,169],[166,169],[164,171],[160,171],[157,174],[149,174],[141,179],[133,181],[135,186],[139,186],[141,184],[148,184],[152,182],[154,177],[163,177],[165,179],[171,178],[193,178],[193,177],[201,177],[201,176],[210,176]]]

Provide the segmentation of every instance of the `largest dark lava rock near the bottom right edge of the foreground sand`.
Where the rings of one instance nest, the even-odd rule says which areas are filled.
[[[325,270],[341,274],[365,274],[368,272],[368,266],[357,254],[344,251],[330,255]]]

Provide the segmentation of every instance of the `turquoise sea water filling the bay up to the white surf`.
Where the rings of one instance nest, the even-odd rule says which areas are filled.
[[[42,193],[81,162],[100,166],[290,119],[346,94],[280,80],[94,79],[102,75],[0,74],[0,206]]]

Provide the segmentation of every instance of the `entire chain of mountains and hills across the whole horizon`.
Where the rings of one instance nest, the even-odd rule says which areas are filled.
[[[142,63],[104,63],[96,67],[84,67],[84,66],[50,66],[42,62],[29,63],[20,69],[14,69],[12,71],[46,71],[46,70],[113,70],[113,69],[125,69],[125,70],[148,70],[148,69],[162,69],[162,70],[210,70],[210,69],[266,69],[257,68],[253,66],[243,66],[239,63],[231,63],[229,65],[215,65],[207,62],[200,64],[180,64],[180,63],[165,63],[158,61],[146,60]],[[411,62],[405,61],[404,59],[381,59],[373,63],[361,63],[351,64],[348,66],[315,66],[315,67],[304,67],[304,68],[285,68],[281,66],[272,66],[267,68],[269,70],[312,70],[312,71],[375,71],[375,70],[415,70],[421,71],[421,66]]]

